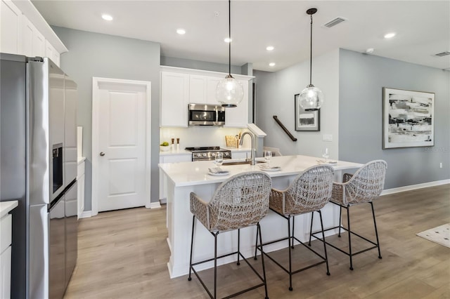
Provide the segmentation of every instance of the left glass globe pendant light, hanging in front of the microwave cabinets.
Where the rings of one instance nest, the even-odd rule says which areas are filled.
[[[244,97],[242,84],[231,76],[231,0],[228,1],[228,25],[229,25],[229,72],[216,88],[217,101],[222,107],[236,107]]]

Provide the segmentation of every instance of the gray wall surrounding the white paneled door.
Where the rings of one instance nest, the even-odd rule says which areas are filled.
[[[86,157],[84,211],[91,210],[92,77],[151,81],[151,201],[158,201],[160,140],[160,44],[120,36],[52,27],[69,49],[60,65],[78,84],[78,126],[83,127]]]

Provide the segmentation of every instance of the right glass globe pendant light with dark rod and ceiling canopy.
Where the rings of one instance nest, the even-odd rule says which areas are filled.
[[[320,109],[323,104],[323,93],[322,91],[312,85],[312,15],[317,12],[317,8],[309,8],[307,14],[311,15],[311,44],[309,47],[309,85],[307,88],[300,93],[300,106],[305,111],[314,111]]]

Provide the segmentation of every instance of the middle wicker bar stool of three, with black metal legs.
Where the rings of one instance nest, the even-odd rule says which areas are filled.
[[[323,222],[321,208],[325,206],[331,197],[331,188],[333,186],[333,175],[334,170],[331,166],[312,166],[307,168],[303,173],[297,175],[297,177],[290,184],[286,190],[276,190],[272,189],[270,194],[269,208],[280,215],[281,217],[288,220],[288,237],[283,239],[278,239],[276,241],[271,241],[264,243],[264,245],[274,244],[279,241],[288,240],[289,248],[289,269],[286,269],[278,263],[274,258],[272,258],[269,253],[262,251],[262,246],[256,246],[255,248],[255,259],[257,250],[262,251],[262,257],[264,254],[270,258],[276,265],[281,267],[285,272],[289,274],[289,291],[293,291],[293,274],[307,270],[316,265],[321,265],[326,263],[326,274],[330,275],[328,269],[328,257],[326,254],[326,244],[323,242],[324,255],[321,255],[317,251],[314,251],[310,246],[307,246],[302,241],[297,239],[294,234],[295,228],[295,216],[302,215],[306,213],[318,212],[321,220],[321,227],[323,231]],[[292,218],[292,231],[290,229],[290,219]],[[312,222],[311,222],[312,223]],[[258,234],[258,232],[257,232]],[[308,248],[310,251],[318,255],[322,260],[314,265],[309,265],[307,267],[302,267],[299,270],[293,271],[291,250],[294,248],[294,240],[298,241],[300,244]]]

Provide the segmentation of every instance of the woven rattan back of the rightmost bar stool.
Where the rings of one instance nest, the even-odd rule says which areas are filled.
[[[344,204],[360,204],[373,201],[380,196],[385,185],[387,163],[383,160],[370,161],[345,182],[345,194],[340,198]],[[333,190],[334,191],[334,190]],[[335,194],[333,194],[333,198]]]

